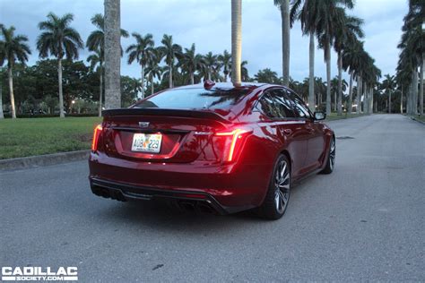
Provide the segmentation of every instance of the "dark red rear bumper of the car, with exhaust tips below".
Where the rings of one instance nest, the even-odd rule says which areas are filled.
[[[91,152],[93,193],[119,201],[177,199],[203,203],[221,214],[259,206],[270,176],[266,166],[138,162]]]

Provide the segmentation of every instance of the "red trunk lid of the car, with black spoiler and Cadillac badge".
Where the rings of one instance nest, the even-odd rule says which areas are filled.
[[[213,133],[231,124],[224,116],[203,110],[124,108],[102,114],[102,142],[108,156],[148,162],[220,161]],[[134,134],[143,136],[147,143],[153,134],[160,135],[159,151],[135,151]]]

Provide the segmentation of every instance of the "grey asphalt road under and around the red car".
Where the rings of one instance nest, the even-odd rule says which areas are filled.
[[[87,162],[0,172],[0,265],[77,266],[81,281],[425,281],[425,125],[329,123],[330,176],[278,221],[91,194]]]

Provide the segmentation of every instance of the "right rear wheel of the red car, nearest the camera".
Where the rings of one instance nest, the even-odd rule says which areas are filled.
[[[291,192],[291,163],[280,155],[273,168],[265,201],[259,208],[259,214],[265,219],[280,219],[288,207]]]

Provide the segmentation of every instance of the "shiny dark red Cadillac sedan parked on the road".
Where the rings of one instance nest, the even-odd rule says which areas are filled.
[[[91,191],[167,198],[221,214],[280,219],[299,179],[334,169],[334,132],[292,90],[206,81],[103,111],[89,159]]]

